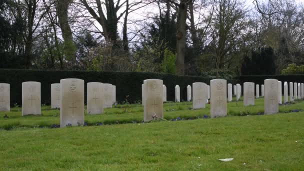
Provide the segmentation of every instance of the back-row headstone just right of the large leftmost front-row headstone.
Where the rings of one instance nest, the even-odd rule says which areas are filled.
[[[103,108],[104,108],[103,83],[88,82],[86,87],[87,87],[86,88],[87,114],[103,113]]]

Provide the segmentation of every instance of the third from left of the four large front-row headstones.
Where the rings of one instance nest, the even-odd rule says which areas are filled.
[[[227,115],[227,81],[225,79],[210,80],[210,116]]]

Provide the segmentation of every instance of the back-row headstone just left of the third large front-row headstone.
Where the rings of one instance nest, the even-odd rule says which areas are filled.
[[[192,105],[193,109],[195,108],[205,108],[206,106],[206,99],[207,99],[207,92],[206,92],[207,84],[203,82],[194,82],[192,83],[193,88],[193,98],[192,98]]]

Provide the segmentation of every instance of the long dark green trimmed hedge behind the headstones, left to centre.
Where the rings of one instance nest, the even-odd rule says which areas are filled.
[[[86,83],[103,82],[116,85],[116,100],[127,100],[134,103],[141,100],[141,84],[144,79],[162,79],[167,87],[167,100],[174,100],[174,86],[180,86],[181,100],[186,99],[186,86],[193,82],[209,84],[209,77],[202,76],[177,76],[173,74],[154,72],[97,72],[97,71],[71,71],[71,70],[25,70],[25,69],[0,69],[0,82],[10,84],[10,104],[21,104],[21,83],[24,81],[41,82],[41,104],[50,103],[50,84],[59,83],[63,78],[83,79],[86,101]],[[235,80],[228,80],[233,83]]]

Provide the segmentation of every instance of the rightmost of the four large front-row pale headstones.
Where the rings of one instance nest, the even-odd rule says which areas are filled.
[[[278,83],[277,79],[265,79],[264,113],[272,114],[278,112]]]

